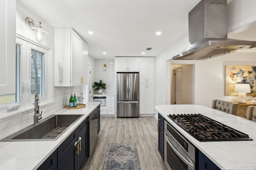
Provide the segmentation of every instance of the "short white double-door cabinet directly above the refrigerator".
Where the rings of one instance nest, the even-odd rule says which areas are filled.
[[[116,57],[116,72],[139,72],[139,57]]]

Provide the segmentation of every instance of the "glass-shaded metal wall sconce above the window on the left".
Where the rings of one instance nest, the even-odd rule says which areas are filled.
[[[48,31],[41,27],[42,23],[40,21],[34,22],[30,17],[26,18],[26,23],[33,31],[36,31],[36,40],[41,43],[44,40],[44,34],[48,33]],[[39,26],[35,27],[35,23],[39,24]]]

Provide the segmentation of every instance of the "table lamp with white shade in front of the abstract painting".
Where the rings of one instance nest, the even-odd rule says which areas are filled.
[[[235,92],[238,92],[238,103],[246,104],[246,93],[250,93],[250,84],[236,84]]]

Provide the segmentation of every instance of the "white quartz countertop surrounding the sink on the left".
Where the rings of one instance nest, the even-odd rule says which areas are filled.
[[[65,141],[100,102],[85,103],[81,109],[61,109],[53,114],[83,115],[56,141],[0,142],[0,170],[36,170]]]

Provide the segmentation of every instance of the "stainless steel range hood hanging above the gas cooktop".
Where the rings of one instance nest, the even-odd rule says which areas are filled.
[[[202,0],[188,14],[191,44],[173,60],[205,60],[256,47],[256,41],[227,39],[227,1]]]

